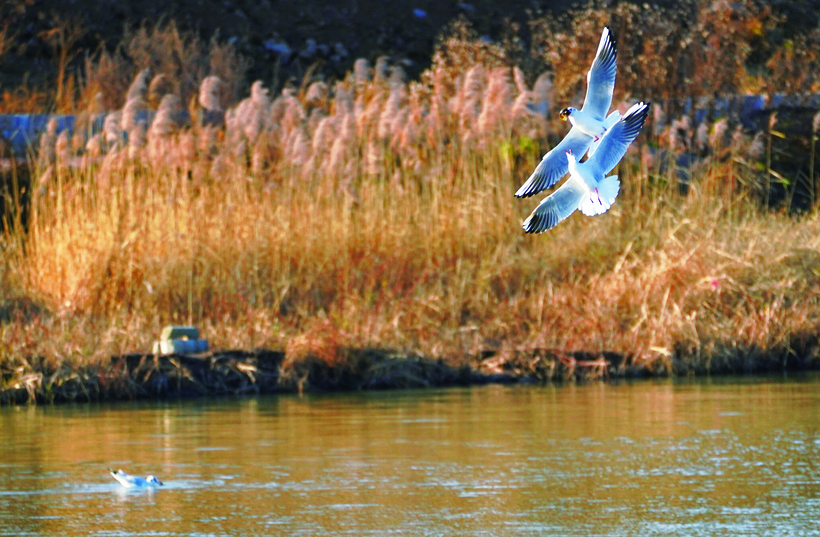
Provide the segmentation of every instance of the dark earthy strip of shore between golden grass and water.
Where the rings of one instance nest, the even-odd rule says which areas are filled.
[[[0,406],[820,370],[818,336],[796,338],[795,343],[791,349],[738,348],[734,359],[724,357],[708,369],[682,356],[636,364],[616,352],[547,349],[485,351],[462,364],[373,347],[338,349],[331,360],[315,354],[294,358],[270,349],[196,356],[133,353],[77,367],[18,357],[0,363]]]

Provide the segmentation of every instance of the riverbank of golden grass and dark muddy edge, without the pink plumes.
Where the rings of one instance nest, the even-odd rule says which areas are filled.
[[[30,232],[5,236],[0,399],[820,367],[818,216],[762,210],[736,163],[701,169],[685,196],[645,165],[621,166],[605,215],[534,237],[518,226],[532,203],[483,171],[446,192],[362,181],[357,203],[194,189],[133,164],[113,196],[98,175],[68,176],[84,196],[39,198]],[[169,323],[245,350],[144,354]]]

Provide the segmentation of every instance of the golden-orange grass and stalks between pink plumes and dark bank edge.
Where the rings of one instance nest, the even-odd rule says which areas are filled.
[[[655,170],[622,165],[612,211],[532,237],[518,225],[532,202],[511,196],[525,169],[486,148],[436,157],[418,177],[373,178],[356,160],[352,178],[326,181],[290,162],[200,181],[138,163],[104,181],[59,171],[6,252],[9,281],[48,313],[12,313],[0,352],[93,363],[193,322],[217,348],[331,365],[355,344],[453,363],[610,350],[706,370],[816,333],[820,222],[761,214],[725,167],[681,198]]]

